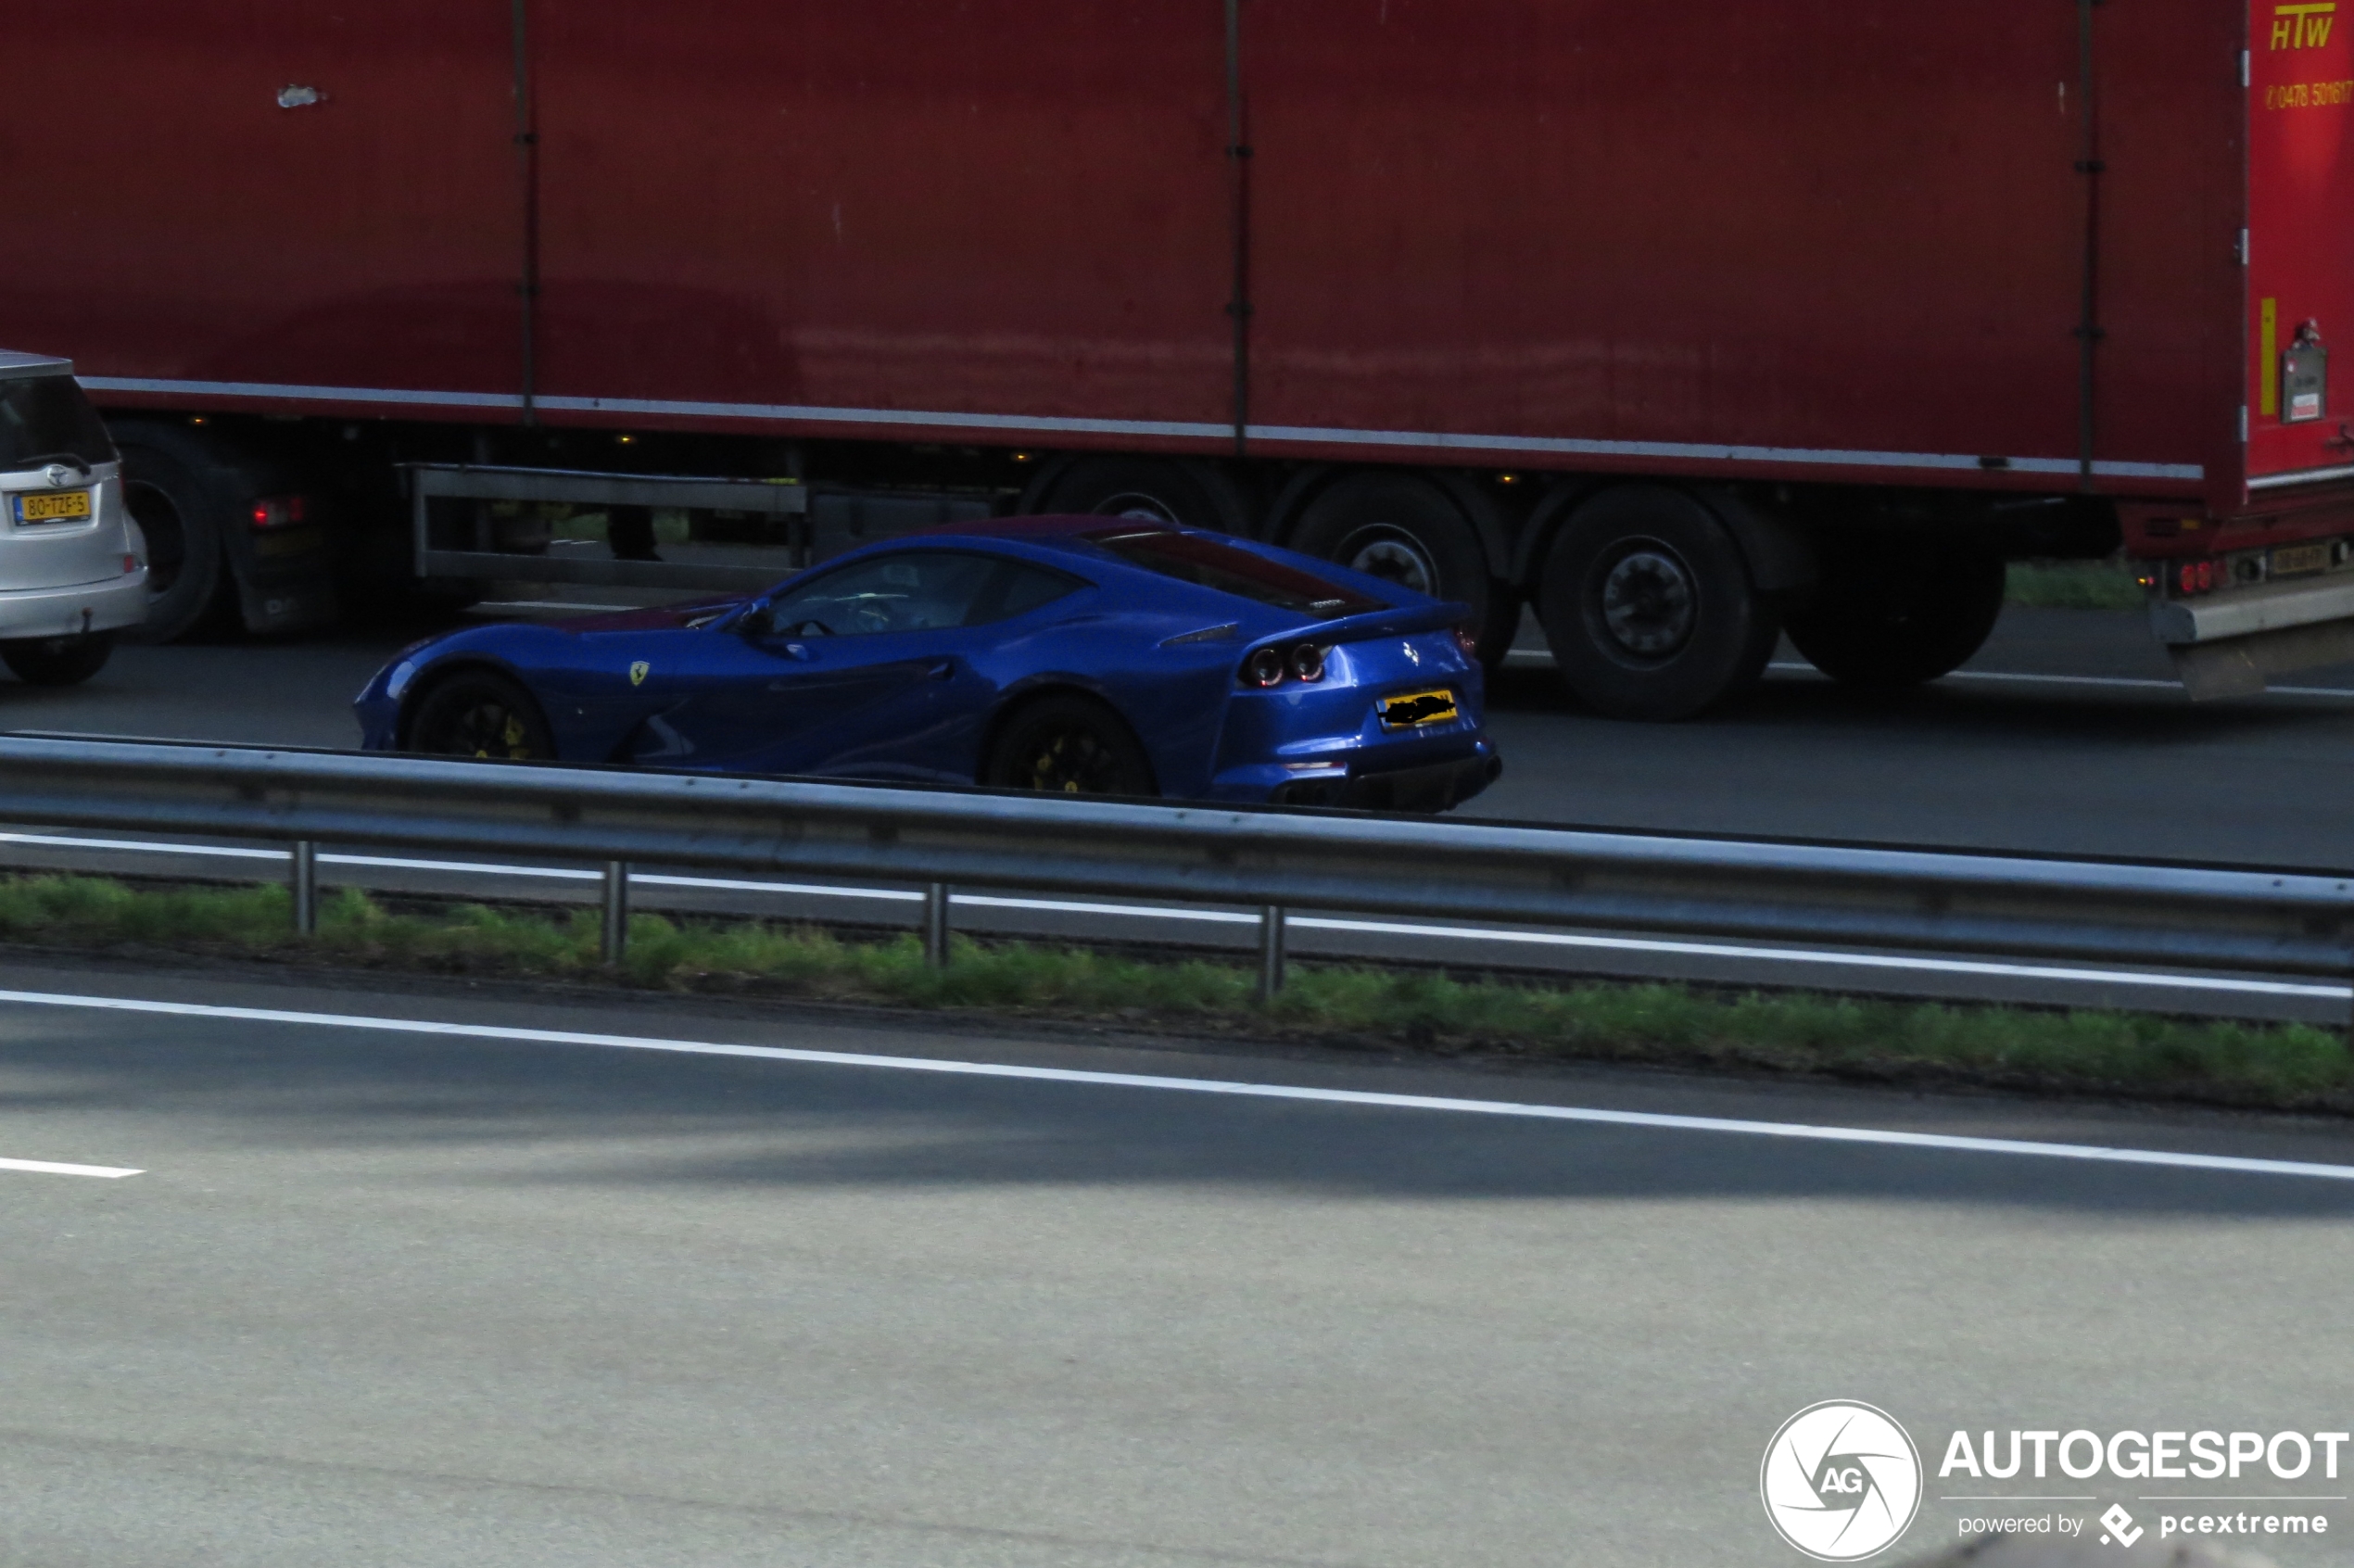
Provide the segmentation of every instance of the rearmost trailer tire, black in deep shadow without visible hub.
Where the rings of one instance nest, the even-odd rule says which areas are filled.
[[[1963,544],[1841,546],[1787,617],[1789,640],[1841,685],[1900,692],[1954,671],[2003,612],[2003,558]]]

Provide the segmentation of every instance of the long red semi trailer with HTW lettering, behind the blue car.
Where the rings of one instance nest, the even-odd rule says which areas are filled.
[[[2333,0],[19,0],[9,52],[92,113],[0,129],[0,344],[111,412],[160,631],[692,473],[800,485],[697,525],[796,558],[1156,511],[1490,652],[1532,603],[1624,716],[1780,629],[1933,678],[2006,558],[2119,546],[2196,695],[2354,657]]]

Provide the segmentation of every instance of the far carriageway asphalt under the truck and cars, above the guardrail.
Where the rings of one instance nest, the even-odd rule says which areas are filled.
[[[414,631],[125,647],[87,687],[0,680],[0,727],[351,746]],[[2133,859],[2354,866],[2354,669],[2189,704],[2140,614],[2010,610],[1966,673],[1871,702],[1784,650],[1740,706],[1594,718],[1525,655],[1495,680],[1504,779],[1464,815]]]

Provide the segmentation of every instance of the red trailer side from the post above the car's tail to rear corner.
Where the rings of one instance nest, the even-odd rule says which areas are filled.
[[[2192,5],[2166,9],[2144,26],[2196,33],[2177,26]],[[2206,28],[2208,94],[2187,113],[2175,78],[2199,45],[2119,45],[2112,75],[2163,71],[2135,99],[2185,120],[2140,137],[2168,160],[2137,186],[2144,207],[2236,162],[2215,99],[2232,31]],[[1497,461],[1629,469],[2076,473],[2072,5],[1269,5],[1250,12],[1245,78],[1266,436],[1427,431]],[[2163,202],[2107,235],[2156,247],[2154,266],[2116,268],[2149,341],[2107,344],[2133,384],[2097,443],[2112,490],[2206,466],[2199,280],[2227,257],[2229,214]]]

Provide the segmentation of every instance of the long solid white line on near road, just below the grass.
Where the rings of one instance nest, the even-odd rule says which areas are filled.
[[[2086,1161],[2100,1165],[2166,1165],[2175,1170],[2220,1170],[2234,1175],[2314,1177],[2354,1182],[2354,1165],[2316,1161],[2262,1161],[2236,1154],[2180,1154],[2173,1149],[2121,1149],[2107,1144],[2050,1144],[2022,1137],[1968,1137],[1959,1132],[1895,1132],[1886,1128],[1834,1128],[1796,1121],[1742,1121],[1733,1116],[1674,1116],[1667,1111],[1608,1111],[1598,1107],[1530,1104],[1516,1099],[1457,1099],[1450,1095],[1384,1095],[1372,1090],[1302,1088],[1292,1083],[1243,1083],[1233,1078],[1170,1078],[1158,1074],[1102,1074],[1071,1067],[1019,1067],[1012,1062],[953,1062],[932,1057],[880,1057],[857,1050],[800,1050],[791,1045],[723,1045],[716,1041],[671,1041],[636,1034],[586,1034],[577,1029],[518,1029],[511,1024],[443,1024],[412,1017],[372,1017],[363,1012],[297,1012],[290,1008],[221,1008],[212,1003],[167,1003],[127,996],[73,996],[64,991],[0,991],[0,1003],[31,1008],[82,1008],[92,1012],[141,1012],[160,1017],[202,1017],[238,1024],[297,1024],[308,1029],[360,1029],[370,1034],[421,1034],[471,1041],[516,1041],[523,1045],[598,1045],[607,1050],[659,1050],[692,1057],[749,1057],[758,1062],[800,1062],[810,1067],[866,1067],[902,1074],[944,1074],[956,1078],[1017,1078],[1026,1083],[1083,1083],[1095,1088],[1163,1090],[1179,1095],[1233,1095],[1241,1099],[1297,1099],[1309,1104],[1349,1104],[1384,1111],[1450,1111],[1462,1116],[1511,1116],[1523,1121],[1570,1121],[1608,1128],[1648,1128],[1655,1132],[1728,1132],[1742,1137],[1787,1137],[1822,1144],[1867,1144],[1883,1149],[1940,1149],[1949,1154],[2008,1154],[2020,1158]]]

